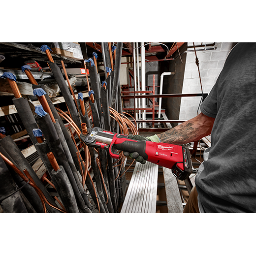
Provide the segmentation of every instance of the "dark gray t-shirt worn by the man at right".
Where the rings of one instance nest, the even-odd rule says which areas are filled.
[[[206,213],[256,213],[256,43],[238,43],[201,104],[214,117],[211,148],[195,178]]]

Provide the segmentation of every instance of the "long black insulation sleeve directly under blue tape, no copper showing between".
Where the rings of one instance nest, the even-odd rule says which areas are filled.
[[[88,212],[88,210],[86,209],[87,206],[85,204],[85,201],[81,196],[81,193],[78,189],[76,180],[72,173],[72,170],[71,170],[69,163],[66,159],[60,138],[58,136],[58,133],[53,125],[53,122],[52,122],[49,114],[46,114],[45,116],[42,116],[42,117],[35,115],[35,120],[36,120],[38,126],[40,127],[41,131],[43,132],[45,140],[47,141],[49,148],[50,148],[51,152],[54,154],[57,162],[64,167],[64,170],[67,174],[69,182],[74,191],[78,207],[83,212],[85,212],[85,213]]]

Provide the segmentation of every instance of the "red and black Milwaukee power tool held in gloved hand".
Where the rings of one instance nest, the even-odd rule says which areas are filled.
[[[187,179],[192,173],[190,151],[179,145],[129,139],[128,135],[112,133],[94,127],[87,134],[80,134],[81,140],[90,147],[109,150],[112,158],[118,159],[116,150],[138,152],[145,160],[172,170],[179,180]]]

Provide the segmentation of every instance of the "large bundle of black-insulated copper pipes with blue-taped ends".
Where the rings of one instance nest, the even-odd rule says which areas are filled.
[[[13,102],[18,114],[47,169],[48,182],[58,197],[51,196],[12,138],[5,136],[0,139],[0,182],[4,184],[0,186],[0,205],[4,212],[117,213],[126,190],[126,158],[119,152],[120,159],[114,162],[104,149],[86,146],[80,139],[80,133],[85,127],[92,128],[90,118],[95,127],[124,134],[128,134],[129,127],[133,134],[138,133],[136,126],[122,112],[119,83],[122,43],[117,43],[115,64],[110,43],[102,43],[105,67],[111,67],[108,67],[111,70],[107,69],[102,86],[95,65],[96,55],[92,57],[94,61],[85,61],[90,73],[91,88],[88,80],[88,91],[91,114],[83,95],[78,94],[76,99],[71,86],[68,90],[60,68],[52,59],[50,48],[42,46],[41,50],[48,56],[49,67],[64,96],[69,114],[54,107],[44,86],[36,83],[29,66],[23,66],[22,70],[32,83],[34,96],[41,103],[35,107],[34,115],[28,100],[19,93],[15,76],[9,74],[6,79],[13,90]],[[64,122],[68,123],[68,130]]]

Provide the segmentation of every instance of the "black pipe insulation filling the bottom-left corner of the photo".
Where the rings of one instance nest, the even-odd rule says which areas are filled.
[[[20,192],[16,190],[17,186],[0,157],[0,205],[4,213],[28,213]]]

